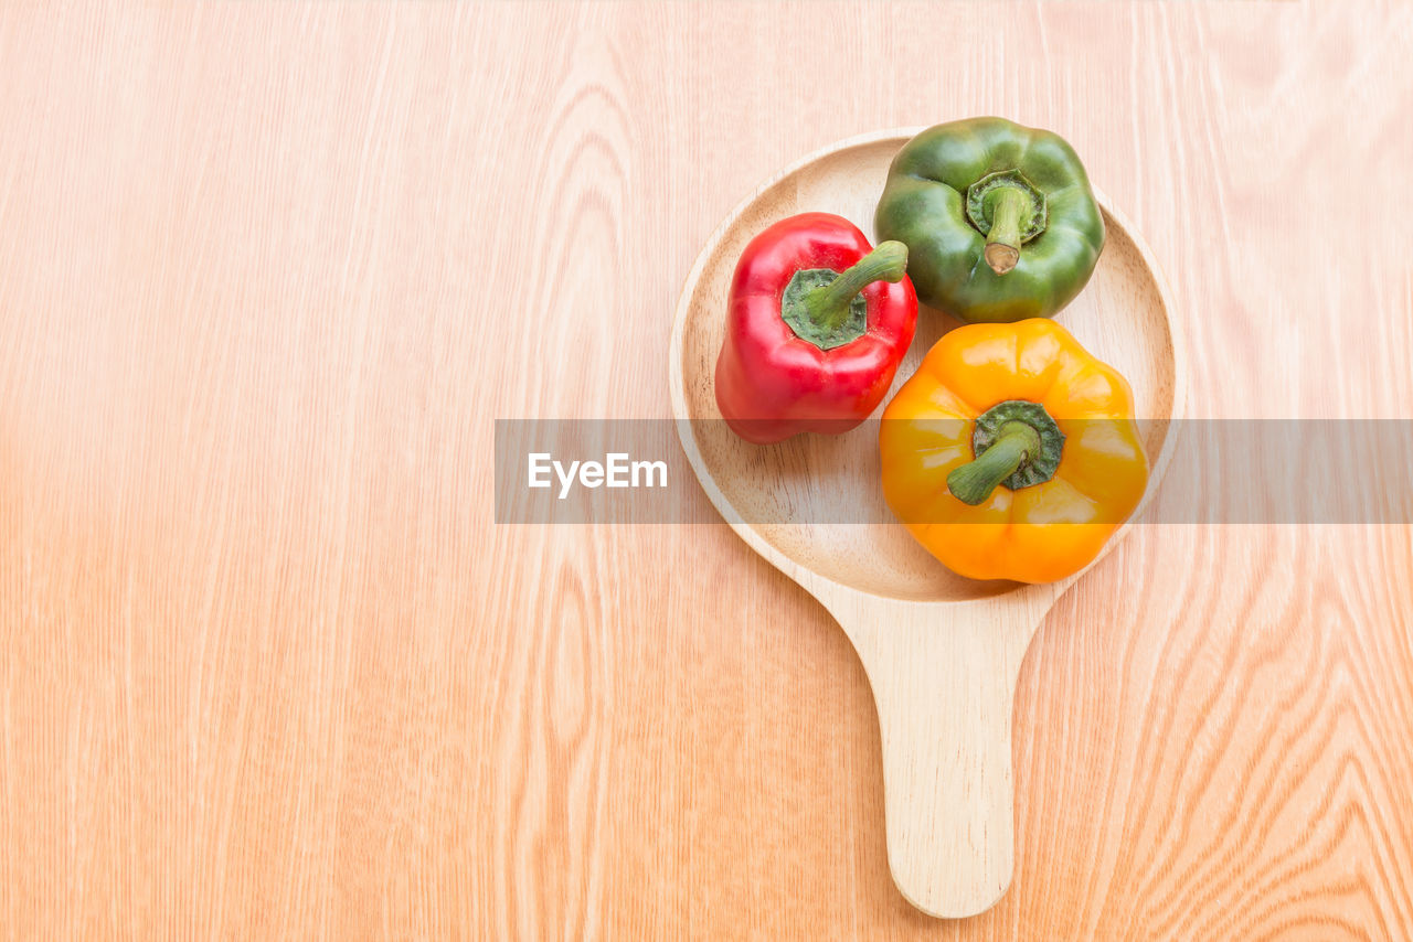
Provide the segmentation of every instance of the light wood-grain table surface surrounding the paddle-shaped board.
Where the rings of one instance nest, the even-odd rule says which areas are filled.
[[[1413,418],[1410,48],[1397,3],[0,7],[0,939],[1413,936],[1409,528],[1139,527],[1022,671],[1009,894],[940,922],[817,603],[725,525],[490,500],[496,418],[670,414],[756,182],[983,113],[1145,233],[1191,415]]]

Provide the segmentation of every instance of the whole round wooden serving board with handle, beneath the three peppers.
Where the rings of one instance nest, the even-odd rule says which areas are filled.
[[[835,613],[859,652],[879,712],[889,866],[899,890],[930,915],[958,918],[992,907],[1010,884],[1016,676],[1041,617],[1078,573],[1051,586],[955,576],[903,527],[848,523],[858,508],[870,508],[869,520],[890,520],[877,486],[876,427],[760,448],[726,428],[715,397],[723,312],[745,246],[766,226],[808,210],[870,232],[889,165],[920,130],[831,144],[736,206],[687,275],[668,378],[682,446],[712,504],[756,552]],[[1098,199],[1105,251],[1064,322],[1129,377],[1136,414],[1146,419],[1152,494],[1173,453],[1170,422],[1183,415],[1187,364],[1152,253]],[[955,326],[927,306],[918,321],[920,336],[885,401]],[[1115,534],[1104,554],[1130,531]]]

